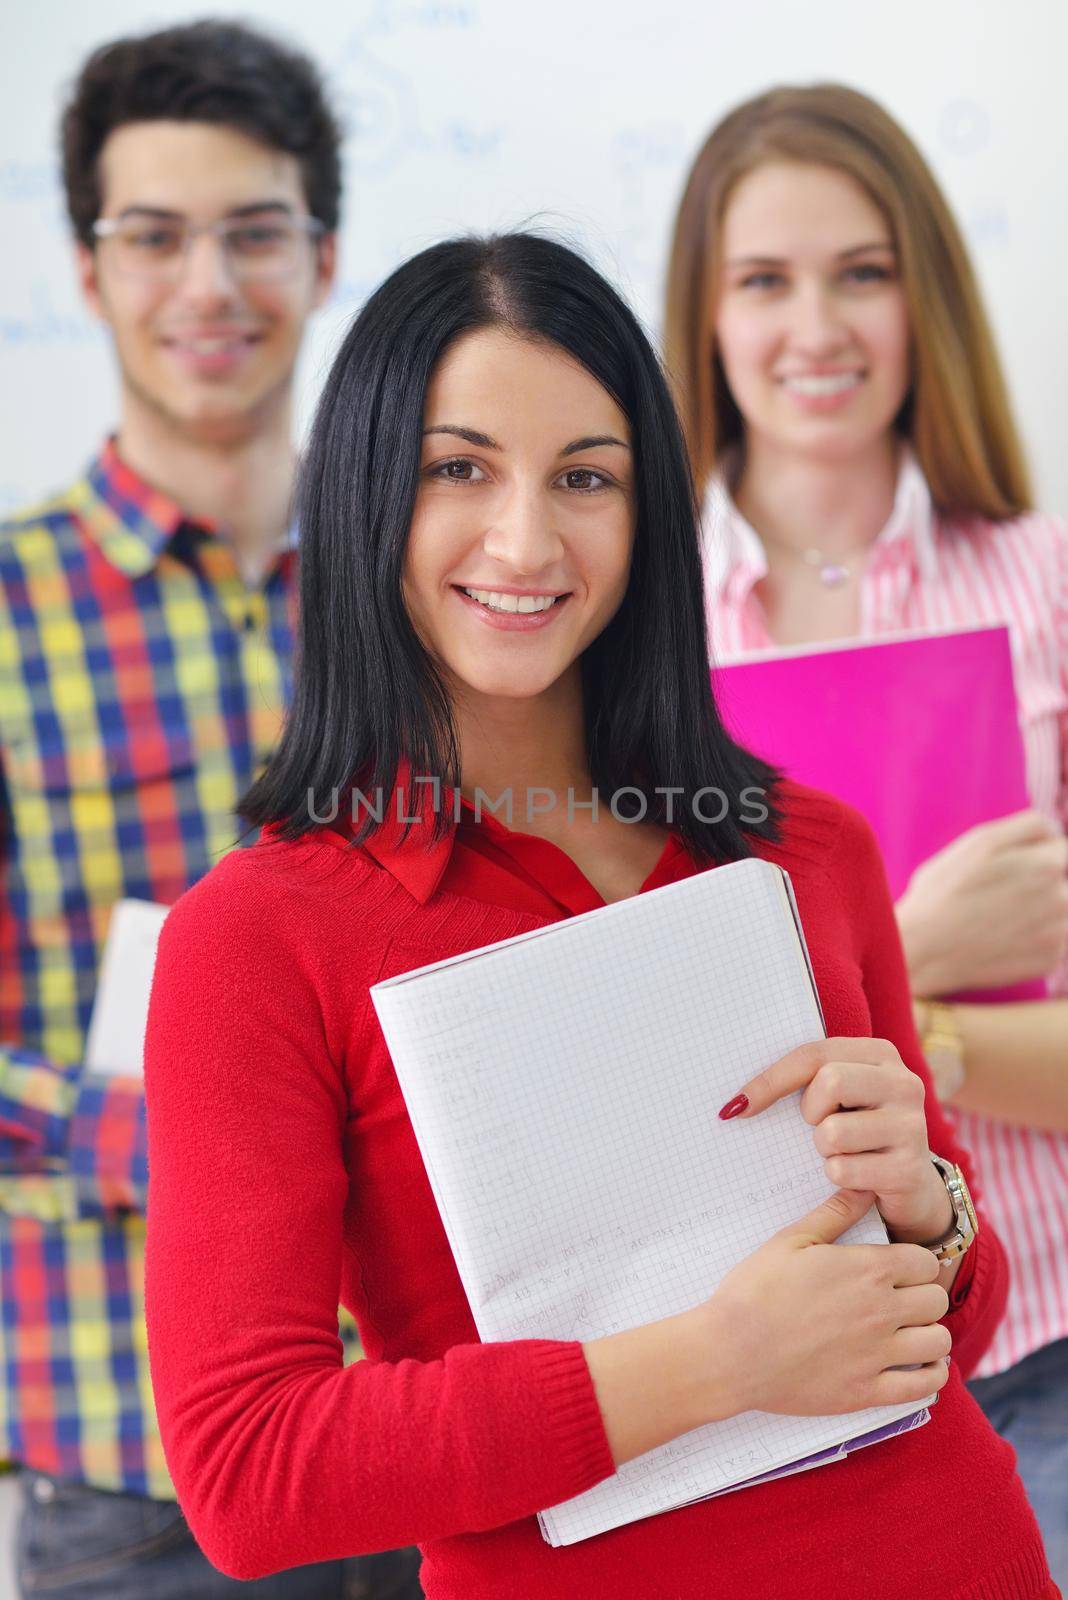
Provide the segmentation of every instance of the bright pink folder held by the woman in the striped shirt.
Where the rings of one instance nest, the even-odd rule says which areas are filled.
[[[742,744],[868,818],[895,899],[958,834],[1031,803],[1004,626],[755,656],[713,688]]]

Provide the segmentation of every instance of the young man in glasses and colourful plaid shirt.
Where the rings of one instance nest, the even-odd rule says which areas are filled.
[[[197,1549],[149,1384],[144,1096],[83,1066],[112,907],[173,902],[235,843],[278,734],[294,363],[334,277],[339,131],[304,56],[198,22],[96,51],[62,155],[122,403],[86,475],[0,530],[0,1459],[22,1469],[19,1582],[411,1600],[411,1550],[238,1584]]]

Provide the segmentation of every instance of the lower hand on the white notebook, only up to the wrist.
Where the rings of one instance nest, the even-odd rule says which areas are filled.
[[[948,1378],[948,1294],[923,1245],[836,1245],[873,1197],[839,1189],[739,1262],[694,1317],[731,1411],[830,1416],[923,1400]]]

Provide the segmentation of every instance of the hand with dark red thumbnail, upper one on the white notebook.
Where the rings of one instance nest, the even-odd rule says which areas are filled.
[[[758,1117],[796,1090],[835,1189],[870,1190],[897,1242],[929,1243],[950,1230],[953,1203],[931,1162],[924,1085],[889,1040],[801,1045],[742,1085],[719,1115]]]

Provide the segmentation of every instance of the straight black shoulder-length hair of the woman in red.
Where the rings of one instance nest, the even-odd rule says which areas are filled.
[[[627,416],[636,528],[616,616],[582,656],[587,747],[601,795],[636,789],[702,859],[750,854],[739,803],[775,837],[772,768],[724,731],[710,686],[697,504],[681,429],[636,318],[595,269],[550,238],[500,234],[435,245],[398,267],[355,318],[318,403],[301,469],[301,624],[293,706],[240,805],[297,838],[352,784],[392,795],[398,766],[457,784],[446,686],[408,618],[404,549],[419,488],[424,405],[449,346],[505,328],[564,350]],[[671,800],[657,794],[671,789]],[[729,803],[710,814],[702,789]],[[739,798],[758,790],[756,800]],[[633,797],[635,811],[641,802]],[[668,810],[670,806],[670,810]],[[331,810],[333,808],[333,810]],[[719,803],[723,810],[723,803]],[[624,806],[620,805],[620,813]],[[374,816],[357,834],[366,838]],[[440,814],[438,826],[448,826]],[[436,830],[436,829],[435,829]]]

